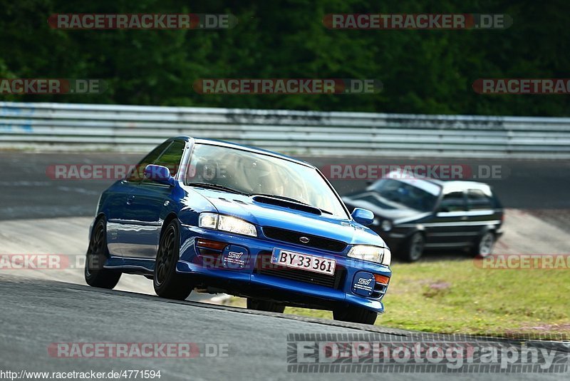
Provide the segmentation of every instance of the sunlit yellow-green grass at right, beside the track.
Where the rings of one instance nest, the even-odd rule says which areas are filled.
[[[477,335],[570,335],[569,270],[483,270],[473,260],[395,263],[392,270],[385,313],[376,325]],[[328,311],[304,308],[288,307],[285,313],[332,318]]]

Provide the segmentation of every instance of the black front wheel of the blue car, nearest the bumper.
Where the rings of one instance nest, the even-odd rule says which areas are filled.
[[[152,283],[155,293],[167,299],[185,300],[194,285],[187,277],[176,273],[176,263],[180,255],[180,228],[177,220],[166,226],[156,255],[155,271]]]

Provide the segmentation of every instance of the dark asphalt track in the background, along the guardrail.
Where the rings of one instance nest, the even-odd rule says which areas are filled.
[[[113,181],[53,180],[46,168],[56,164],[136,164],[140,154],[0,152],[0,220],[87,216]],[[484,179],[507,208],[570,209],[570,161],[457,159],[304,158],[319,168],[343,165],[455,164],[472,168],[500,166],[499,178]],[[341,194],[362,189],[366,180],[331,180]]]

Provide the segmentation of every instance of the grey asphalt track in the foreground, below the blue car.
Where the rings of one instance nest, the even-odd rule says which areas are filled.
[[[557,363],[566,364],[566,373],[291,373],[287,370],[289,334],[375,332],[383,333],[386,342],[390,337],[408,337],[412,342],[434,338],[377,326],[252,313],[9,275],[0,275],[0,290],[0,368],[13,372],[160,370],[161,380],[563,380],[568,375],[564,360],[569,355],[567,345],[533,341],[526,345],[549,350],[561,359]],[[53,343],[74,342],[191,342],[197,352],[192,358],[69,358],[48,350]],[[472,345],[484,342],[475,340]],[[520,342],[504,345],[520,349]],[[207,346],[218,349],[207,351]],[[207,352],[222,356],[209,357]]]

